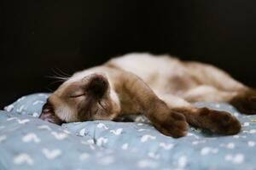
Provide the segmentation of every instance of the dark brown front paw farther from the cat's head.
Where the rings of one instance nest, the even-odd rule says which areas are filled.
[[[241,130],[240,122],[226,111],[214,111],[207,108],[201,108],[200,111],[202,121],[205,121],[207,127],[213,132],[236,134]]]

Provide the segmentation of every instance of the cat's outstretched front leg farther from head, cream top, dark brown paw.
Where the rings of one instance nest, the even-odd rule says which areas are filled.
[[[208,108],[195,108],[184,99],[169,94],[158,94],[172,111],[181,113],[190,125],[203,127],[213,132],[223,134],[236,134],[241,130],[241,124],[226,111],[215,111]]]

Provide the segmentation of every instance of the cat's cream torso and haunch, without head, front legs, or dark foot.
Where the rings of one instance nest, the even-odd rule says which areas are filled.
[[[245,88],[218,68],[199,62],[185,62],[169,55],[127,54],[110,60],[114,65],[142,78],[160,98],[175,95],[190,102],[227,101],[236,90]],[[203,95],[205,93],[214,95]],[[230,93],[227,96],[221,93]],[[234,94],[232,94],[235,92]],[[218,93],[218,94],[216,94]]]

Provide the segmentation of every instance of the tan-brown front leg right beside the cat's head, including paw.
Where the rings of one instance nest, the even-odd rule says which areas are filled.
[[[147,116],[160,133],[174,138],[186,135],[188,123],[185,117],[172,111],[143,80],[126,71],[115,71],[113,80],[118,80],[113,85],[119,96],[122,115],[140,113]]]

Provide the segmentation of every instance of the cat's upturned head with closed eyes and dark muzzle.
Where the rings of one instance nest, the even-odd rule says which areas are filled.
[[[88,120],[112,120],[120,110],[117,94],[110,87],[108,77],[93,73],[72,77],[49,96],[39,116],[61,124]]]

